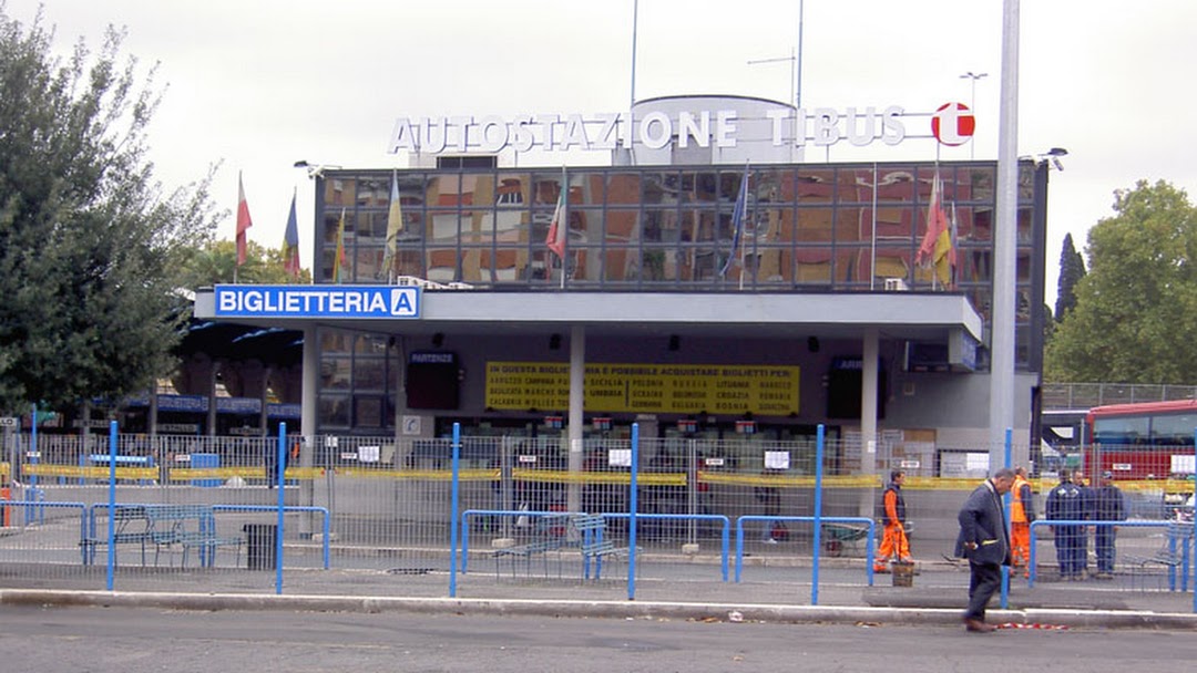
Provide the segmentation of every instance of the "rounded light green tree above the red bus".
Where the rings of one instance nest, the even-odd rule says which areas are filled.
[[[1089,273],[1076,283],[1045,353],[1056,381],[1197,381],[1197,209],[1166,182],[1114,192],[1089,231]]]

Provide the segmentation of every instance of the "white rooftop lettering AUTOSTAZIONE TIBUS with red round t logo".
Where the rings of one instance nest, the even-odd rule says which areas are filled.
[[[632,145],[661,149],[672,141],[679,147],[735,147],[749,122],[767,122],[768,140],[776,147],[791,145],[826,147],[846,141],[863,147],[874,142],[898,145],[907,137],[907,115],[898,105],[888,108],[768,109],[764,117],[748,118],[735,110],[694,112],[652,111],[630,120],[626,112],[603,115],[524,115],[514,118],[487,117],[399,117],[388,151],[423,152],[528,152],[533,147],[547,151],[615,149]],[[950,103],[931,117],[934,136],[946,145],[959,145],[972,135],[972,111],[961,103]],[[931,129],[922,133],[926,137]],[[764,140],[753,131],[753,140]],[[633,142],[634,141],[634,142]]]

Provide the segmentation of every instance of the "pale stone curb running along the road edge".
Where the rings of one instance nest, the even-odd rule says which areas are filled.
[[[912,625],[960,623],[960,611],[909,607],[824,607],[810,605],[701,604],[673,601],[579,601],[345,595],[195,594],[160,592],[77,592],[0,589],[0,605],[166,607],[175,610],[288,610],[310,612],[413,612],[527,614],[625,619],[693,619],[788,624]],[[1197,614],[1110,610],[991,610],[990,622],[1107,629],[1197,630]]]

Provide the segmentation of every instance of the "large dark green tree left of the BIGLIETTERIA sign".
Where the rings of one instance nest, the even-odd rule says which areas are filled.
[[[146,158],[153,69],[0,0],[0,411],[144,391],[174,368],[183,252],[211,238],[212,172],[166,194]],[[120,62],[119,62],[120,59]]]

